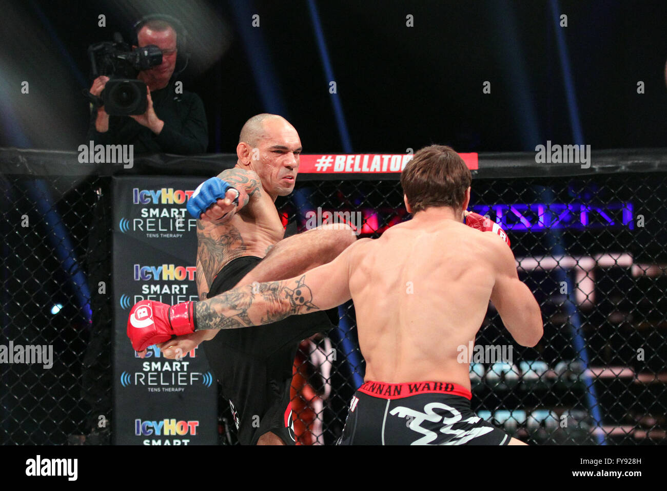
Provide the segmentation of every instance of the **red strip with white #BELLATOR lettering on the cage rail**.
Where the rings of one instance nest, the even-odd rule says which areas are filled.
[[[477,154],[459,154],[477,170]],[[413,154],[301,154],[299,174],[387,174],[402,172]]]

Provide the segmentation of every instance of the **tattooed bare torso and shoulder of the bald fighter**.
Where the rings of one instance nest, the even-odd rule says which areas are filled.
[[[285,230],[271,196],[251,170],[228,169],[219,178],[245,191],[241,209],[228,222],[197,220],[197,291],[205,299],[213,278],[229,261],[264,257]]]

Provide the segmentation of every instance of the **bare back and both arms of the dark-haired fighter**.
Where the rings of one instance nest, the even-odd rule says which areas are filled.
[[[352,299],[366,381],[470,388],[470,365],[458,362],[458,348],[474,343],[489,301],[523,346],[540,341],[542,314],[505,241],[456,221],[456,214],[418,212],[381,238],[358,240],[330,263],[262,283],[257,292],[237,287],[200,302],[197,329],[266,324]]]

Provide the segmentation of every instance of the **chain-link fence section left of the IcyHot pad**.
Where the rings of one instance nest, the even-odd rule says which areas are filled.
[[[90,295],[97,281],[109,284],[111,224],[99,206],[104,181],[0,180],[3,444],[65,444],[84,428],[100,428],[98,440],[108,442],[109,428],[89,418],[111,416],[111,313],[101,296],[91,305]],[[94,325],[93,309],[101,314]],[[91,340],[101,343],[95,356]]]

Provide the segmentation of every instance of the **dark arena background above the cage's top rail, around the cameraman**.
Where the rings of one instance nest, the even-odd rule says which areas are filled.
[[[461,152],[534,150],[546,140],[593,150],[664,146],[664,1],[314,5],[334,95],[308,1],[3,3],[0,145],[76,150],[85,143],[87,46],[114,31],[127,40],[136,19],[160,12],[189,31],[192,58],[180,79],[205,104],[209,152],[233,152],[243,122],[259,112],[289,119],[306,153],[406,152],[432,142]],[[568,27],[556,28],[561,13]],[[97,26],[100,14],[106,27]],[[251,27],[253,14],[260,27]],[[414,27],[406,27],[408,14]],[[24,80],[29,94],[20,92]],[[487,80],[491,94],[482,93]],[[640,80],[645,94],[637,94]],[[347,148],[332,98],[342,108]]]

